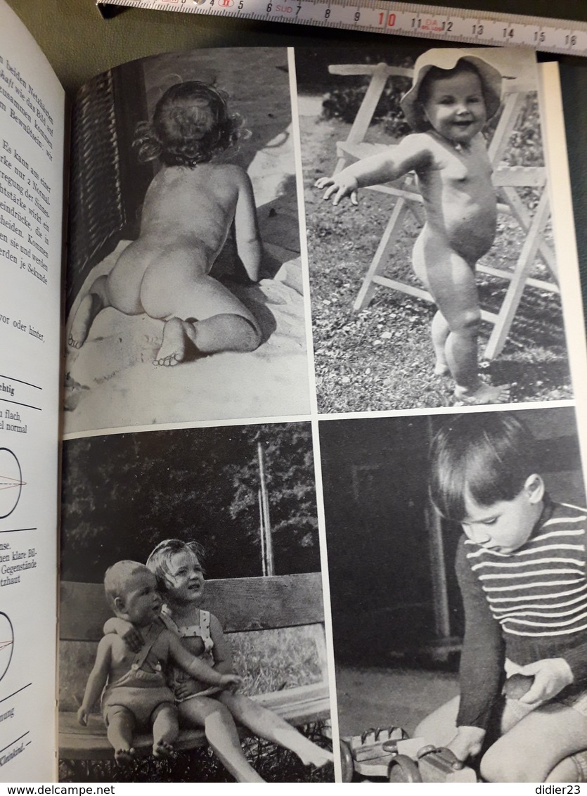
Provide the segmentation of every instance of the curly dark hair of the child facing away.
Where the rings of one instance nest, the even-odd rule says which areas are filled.
[[[138,159],[161,158],[165,166],[206,163],[239,139],[243,120],[229,115],[227,96],[200,80],[176,83],[155,106],[152,122],[140,122],[133,146]]]

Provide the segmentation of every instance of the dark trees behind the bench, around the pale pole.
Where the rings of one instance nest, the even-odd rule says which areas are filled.
[[[173,429],[64,444],[63,579],[99,582],[162,539],[196,539],[209,578],[262,574],[257,443],[278,574],[320,568],[308,423]]]

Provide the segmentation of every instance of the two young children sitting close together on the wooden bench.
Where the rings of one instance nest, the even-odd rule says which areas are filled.
[[[329,763],[331,752],[312,743],[255,700],[235,693],[240,678],[232,672],[231,650],[222,626],[216,616],[200,608],[204,591],[202,556],[202,548],[195,542],[169,539],[157,545],[146,567],[131,562],[134,569],[121,571],[128,562],[120,562],[111,568],[122,572],[116,581],[118,593],[110,598],[116,618],[109,619],[104,626],[106,635],[99,643],[95,669],[80,708],[81,723],[87,720],[91,705],[106,685],[102,696],[103,716],[108,738],[120,762],[132,757],[135,729],[145,725],[153,728],[154,754],[169,754],[177,738],[178,721],[181,727],[204,729],[210,747],[237,782],[264,780],[243,753],[236,722],[256,736],[290,749],[305,765],[321,767]],[[107,573],[106,583],[110,580]],[[145,592],[140,599],[146,603],[142,616],[129,611],[129,603],[132,609],[138,600],[134,597],[138,583],[139,593]],[[107,585],[109,589],[111,586]],[[155,634],[155,640],[151,641]],[[141,659],[147,646],[152,656],[147,669],[158,673],[157,689],[165,689],[158,700],[151,693],[154,686],[148,681],[137,685],[138,672],[145,668]],[[179,654],[177,648],[181,650]],[[120,687],[125,688],[125,683],[119,681],[125,677],[132,680],[131,687],[136,689],[128,703],[117,698]],[[126,699],[124,695],[123,698]],[[126,721],[123,739],[111,730],[112,717],[119,714]]]

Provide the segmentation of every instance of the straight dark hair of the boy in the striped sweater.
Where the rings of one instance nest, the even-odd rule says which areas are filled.
[[[482,506],[513,500],[537,472],[535,449],[526,424],[506,412],[450,420],[430,451],[430,497],[437,511],[462,522],[467,495]]]

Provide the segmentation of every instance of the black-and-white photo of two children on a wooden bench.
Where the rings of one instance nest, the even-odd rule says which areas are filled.
[[[332,782],[309,423],[75,439],[64,472],[60,780]]]

